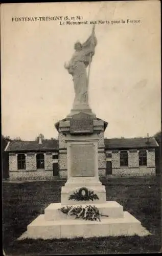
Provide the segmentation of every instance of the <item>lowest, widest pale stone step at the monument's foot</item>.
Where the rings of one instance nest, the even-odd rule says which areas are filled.
[[[141,222],[129,212],[124,211],[123,218],[103,218],[101,222],[85,220],[47,221],[44,215],[39,215],[27,231],[18,239],[60,239],[60,238],[90,238],[107,236],[147,236],[150,234]]]

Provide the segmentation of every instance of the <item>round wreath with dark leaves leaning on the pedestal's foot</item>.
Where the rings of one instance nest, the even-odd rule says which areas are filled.
[[[68,200],[75,201],[94,201],[96,199],[99,199],[99,197],[94,193],[94,191],[88,190],[86,187],[81,187],[79,191],[74,191],[74,193],[68,198]]]

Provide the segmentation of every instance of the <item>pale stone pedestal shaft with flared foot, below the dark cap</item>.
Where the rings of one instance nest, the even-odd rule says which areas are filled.
[[[96,203],[106,202],[105,187],[98,175],[98,134],[66,135],[67,182],[61,189],[61,203],[75,204],[69,196],[81,187],[93,190],[99,196]],[[87,204],[86,201],[79,202]],[[89,203],[89,202],[88,202]]]

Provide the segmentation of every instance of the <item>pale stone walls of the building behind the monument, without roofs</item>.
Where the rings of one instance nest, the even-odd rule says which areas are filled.
[[[26,155],[26,169],[17,169],[17,154],[9,153],[9,168],[10,168],[10,180],[39,180],[39,179],[51,179],[53,177],[53,162],[59,163],[59,177],[67,178],[67,150],[64,135],[60,134],[61,141],[59,148],[59,160],[54,160],[54,154],[56,152],[44,153],[44,169],[36,169],[36,153],[27,153]],[[111,158],[106,158],[106,154],[103,147],[103,133],[100,133],[99,148],[98,148],[98,167],[99,177],[106,177],[106,161],[112,162],[112,175],[118,177],[124,176],[153,176],[155,175],[155,151],[154,149],[147,150],[147,166],[139,166],[138,151],[128,151],[128,166],[120,166],[120,151],[106,151],[106,154],[110,153]]]

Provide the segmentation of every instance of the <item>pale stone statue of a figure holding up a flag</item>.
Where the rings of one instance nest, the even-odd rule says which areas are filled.
[[[95,36],[95,26],[92,28],[92,33],[88,39],[81,44],[79,41],[75,42],[73,54],[71,60],[64,64],[64,68],[68,73],[73,76],[75,99],[73,103],[73,109],[88,107],[88,75],[86,74],[86,68],[92,60],[92,56],[95,54],[95,47],[97,45],[97,38]]]

